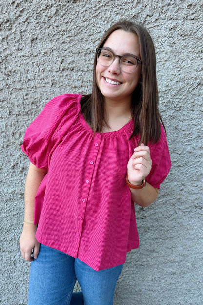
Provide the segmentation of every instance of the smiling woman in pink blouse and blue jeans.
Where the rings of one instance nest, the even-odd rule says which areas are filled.
[[[134,202],[154,202],[171,167],[160,121],[152,39],[117,22],[96,50],[92,94],[54,98],[25,133],[30,305],[113,304],[139,246]],[[76,279],[82,293],[72,294]]]

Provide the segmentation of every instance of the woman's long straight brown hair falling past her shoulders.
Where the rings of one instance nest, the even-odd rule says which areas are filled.
[[[118,29],[137,35],[140,46],[140,59],[142,61],[141,81],[133,92],[131,103],[131,113],[134,119],[134,130],[131,138],[136,134],[140,134],[139,144],[144,143],[147,145],[149,141],[156,143],[161,135],[160,121],[163,127],[164,124],[158,109],[156,56],[152,38],[142,25],[124,20],[115,23],[106,31],[98,47],[102,47],[111,33]],[[94,132],[102,132],[102,127],[105,123],[104,98],[96,84],[96,65],[97,56],[95,54],[92,94],[81,98],[81,112]]]

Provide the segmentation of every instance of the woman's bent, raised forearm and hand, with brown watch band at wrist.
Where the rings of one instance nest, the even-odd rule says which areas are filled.
[[[127,165],[129,182],[134,185],[141,185],[142,180],[150,173],[151,167],[152,160],[149,147],[141,144],[141,146],[134,149],[134,153]],[[130,188],[130,191],[132,200],[142,207],[149,206],[157,199],[159,194],[159,190],[147,182],[142,189],[135,190]]]

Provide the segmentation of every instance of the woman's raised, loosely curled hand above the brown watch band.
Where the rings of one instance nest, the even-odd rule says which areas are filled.
[[[127,164],[128,180],[131,184],[141,185],[150,173],[152,159],[148,146],[143,143],[134,149],[134,153]]]

